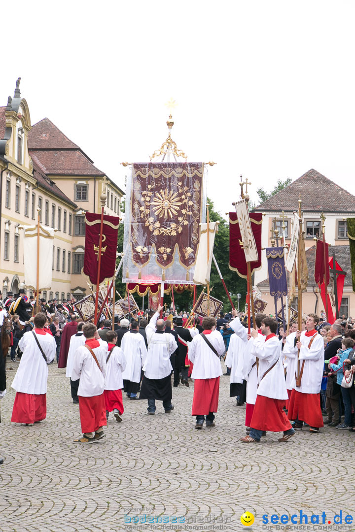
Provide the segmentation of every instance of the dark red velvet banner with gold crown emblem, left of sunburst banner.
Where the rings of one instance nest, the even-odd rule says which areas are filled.
[[[120,219],[117,216],[104,214],[99,282],[114,276],[119,221]],[[83,271],[90,278],[90,282],[93,285],[96,285],[97,282],[100,224],[101,214],[95,214],[94,212],[87,212],[85,214],[85,255]]]

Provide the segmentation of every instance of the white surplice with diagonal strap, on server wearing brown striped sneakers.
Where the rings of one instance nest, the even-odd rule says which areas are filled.
[[[259,337],[253,338],[251,353],[259,359],[258,395],[273,399],[288,399],[278,337],[265,338],[265,342]],[[275,362],[273,369],[266,373]]]

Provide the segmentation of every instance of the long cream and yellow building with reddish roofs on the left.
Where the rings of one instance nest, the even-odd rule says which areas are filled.
[[[0,286],[3,296],[26,287],[21,227],[37,223],[55,228],[52,286],[42,296],[58,300],[89,293],[84,264],[85,213],[119,215],[122,190],[54,124],[44,119],[31,127],[19,80],[14,97],[0,107]]]

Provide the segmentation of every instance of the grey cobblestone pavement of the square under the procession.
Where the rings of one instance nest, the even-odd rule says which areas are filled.
[[[107,437],[80,446],[72,443],[80,434],[79,407],[71,401],[65,370],[49,366],[47,419],[26,427],[10,422],[17,365],[7,365],[1,532],[255,532],[266,529],[262,514],[325,511],[333,522],[339,510],[351,513],[355,435],[325,428],[319,434],[303,430],[283,444],[279,434],[243,444],[245,407],[229,398],[229,377],[221,377],[214,428],[194,429],[191,383],[173,388],[175,410],[169,415],[160,402],[155,416],[148,416],[146,401],[125,398],[122,423],[111,414]],[[245,511],[255,516],[250,527],[240,520]],[[170,520],[142,523],[145,515]],[[171,522],[174,516],[178,522]]]

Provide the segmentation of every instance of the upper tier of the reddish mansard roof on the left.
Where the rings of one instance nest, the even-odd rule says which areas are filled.
[[[64,135],[51,120],[44,118],[37,122],[28,134],[29,149],[80,149]]]

